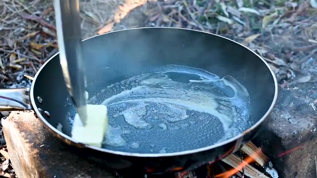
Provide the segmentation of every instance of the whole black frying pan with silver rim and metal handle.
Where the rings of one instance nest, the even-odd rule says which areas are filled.
[[[165,173],[222,159],[254,138],[277,99],[268,64],[218,35],[138,28],[89,38],[83,48],[89,102],[108,106],[110,132],[103,148],[70,137],[75,110],[58,54],[40,68],[30,89],[2,89],[1,109],[33,109],[52,134],[111,168]],[[238,121],[221,121],[219,113],[235,113],[229,121]]]

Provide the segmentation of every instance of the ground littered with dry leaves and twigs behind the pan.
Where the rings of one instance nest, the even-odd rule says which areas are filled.
[[[281,86],[292,90],[316,110],[316,0],[80,2],[83,38],[113,30],[154,26],[222,35],[260,54],[274,70]],[[57,51],[52,0],[0,0],[2,88],[30,86],[31,81],[23,75],[34,76]],[[2,175],[14,177],[10,164],[6,166],[8,159],[2,154]]]

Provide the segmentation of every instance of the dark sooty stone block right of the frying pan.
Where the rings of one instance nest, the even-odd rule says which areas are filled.
[[[317,111],[279,87],[273,117],[256,138],[279,177],[316,178],[316,126]]]

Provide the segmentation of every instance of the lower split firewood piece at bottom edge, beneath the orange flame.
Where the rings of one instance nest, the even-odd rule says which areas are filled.
[[[231,154],[222,159],[222,161],[242,172],[241,159],[238,156]],[[250,178],[269,178],[249,164],[246,164],[246,166],[244,166],[244,174]]]

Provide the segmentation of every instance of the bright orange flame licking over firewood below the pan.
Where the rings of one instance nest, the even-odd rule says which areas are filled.
[[[259,152],[261,152],[261,150],[256,150],[253,155],[246,157],[236,168],[232,168],[224,173],[215,175],[215,178],[230,178],[232,175],[235,175],[237,172],[241,171],[244,166],[254,162],[255,158],[258,157]]]

